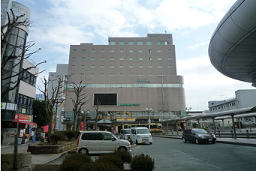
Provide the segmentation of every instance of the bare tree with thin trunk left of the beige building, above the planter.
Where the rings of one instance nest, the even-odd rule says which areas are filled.
[[[63,77],[57,75],[55,80],[48,80],[44,77],[42,79],[42,83],[44,84],[44,89],[41,89],[38,86],[38,90],[44,94],[45,101],[45,110],[47,117],[49,118],[49,129],[48,129],[48,139],[47,142],[52,142],[50,136],[53,133],[53,116],[54,116],[54,106],[57,105],[56,101],[62,96],[62,91],[60,91],[63,87]],[[52,87],[49,87],[49,85]],[[53,86],[53,83],[56,83],[56,86]]]

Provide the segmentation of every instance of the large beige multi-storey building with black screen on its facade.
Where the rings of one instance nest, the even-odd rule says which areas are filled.
[[[113,123],[185,115],[184,81],[177,75],[172,34],[109,37],[108,45],[71,45],[68,87],[81,79],[86,80],[90,98],[82,110],[89,110],[91,118],[96,100],[101,101],[100,116]],[[65,118],[72,122],[71,96],[67,92]]]

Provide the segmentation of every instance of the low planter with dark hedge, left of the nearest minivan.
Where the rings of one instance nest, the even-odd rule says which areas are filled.
[[[59,154],[77,148],[77,142],[67,142],[62,145],[29,145],[31,154]]]

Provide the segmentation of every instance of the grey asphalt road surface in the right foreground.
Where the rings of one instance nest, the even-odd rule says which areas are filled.
[[[152,145],[137,145],[132,154],[148,154],[155,160],[155,170],[254,170],[256,148],[245,145],[197,145],[182,139],[153,137]],[[97,157],[93,155],[92,158]],[[64,157],[47,164],[60,164]]]

